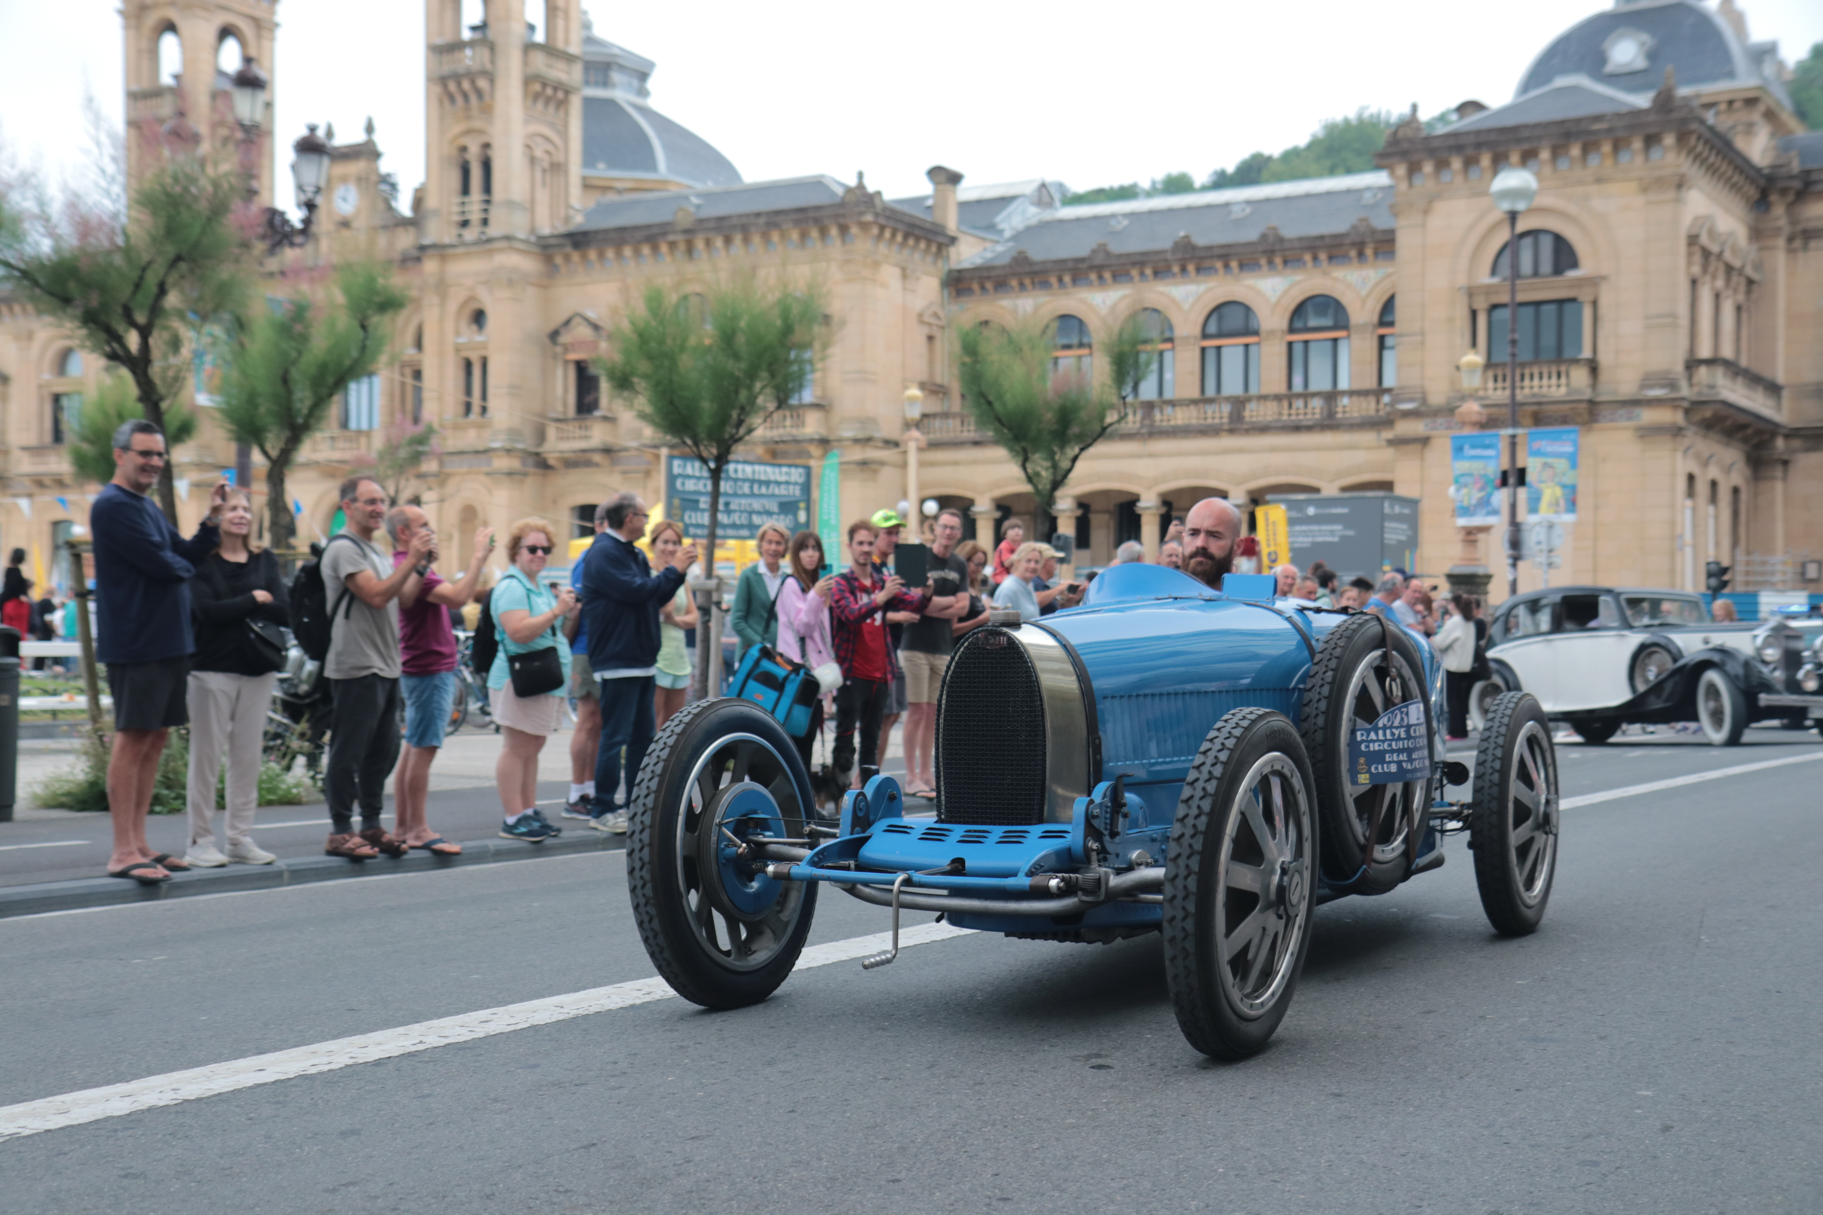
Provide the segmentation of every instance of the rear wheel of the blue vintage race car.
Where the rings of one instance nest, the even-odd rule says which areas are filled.
[[[1482,911],[1502,936],[1537,931],[1557,874],[1557,752],[1539,699],[1495,701],[1475,749],[1469,847]]]

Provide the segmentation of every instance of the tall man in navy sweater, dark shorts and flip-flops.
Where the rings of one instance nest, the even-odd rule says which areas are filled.
[[[148,497],[164,468],[164,434],[144,419],[113,437],[115,477],[95,495],[95,658],[108,665],[115,736],[108,758],[108,814],[115,847],[108,874],[142,885],[168,882],[177,865],[146,845],[146,814],[159,756],[173,725],[190,721],[188,679],[195,634],[190,577],[221,543],[228,485],[210,494],[210,514],[184,539]]]

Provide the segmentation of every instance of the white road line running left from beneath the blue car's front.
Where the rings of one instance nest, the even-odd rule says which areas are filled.
[[[939,940],[950,940],[952,936],[968,934],[972,934],[972,929],[959,929],[950,924],[919,924],[899,933],[899,947],[906,949],[910,945],[926,945]],[[833,965],[837,962],[853,962],[855,958],[864,958],[890,947],[891,933],[850,936],[848,940],[837,940],[826,945],[811,945],[798,955],[797,969],[804,971],[819,965]],[[233,1093],[257,1084],[273,1084],[275,1080],[292,1080],[295,1077],[337,1071],[341,1067],[354,1067],[355,1064],[370,1064],[379,1058],[396,1058],[416,1051],[430,1051],[439,1046],[472,1042],[476,1038],[489,1038],[500,1033],[512,1033],[514,1029],[551,1026],[574,1016],[611,1013],[614,1009],[653,1004],[654,1000],[671,1000],[675,996],[676,993],[671,991],[669,984],[658,976],[636,978],[627,984],[614,984],[613,987],[591,987],[589,991],[572,991],[569,995],[547,996],[543,1000],[505,1004],[501,1007],[481,1009],[478,1013],[417,1022],[416,1026],[399,1026],[397,1029],[381,1029],[377,1033],[363,1033],[352,1038],[335,1038],[332,1042],[317,1042],[315,1046],[299,1046],[290,1051],[252,1055],[248,1058],[235,1058],[226,1064],[211,1064],[208,1067],[191,1067],[188,1071],[170,1071],[162,1077],[129,1080],[128,1084],[109,1084],[98,1089],[64,1093],[62,1097],[46,1097],[42,1100],[29,1100],[18,1106],[0,1106],[0,1140],[38,1135],[42,1131],[55,1131],[66,1126],[80,1126],[100,1118],[118,1118],[128,1113],[139,1113],[140,1109],[177,1106],[186,1100]]]

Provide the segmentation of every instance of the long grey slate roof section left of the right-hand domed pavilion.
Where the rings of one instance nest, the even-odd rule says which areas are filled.
[[[1066,206],[1014,237],[983,250],[964,266],[1004,266],[1021,250],[1037,262],[1087,257],[1097,244],[1110,253],[1169,250],[1179,235],[1196,244],[1243,244],[1265,228],[1285,239],[1340,235],[1365,219],[1391,230],[1393,179],[1375,169],[1267,186],[1203,189],[1187,195]]]

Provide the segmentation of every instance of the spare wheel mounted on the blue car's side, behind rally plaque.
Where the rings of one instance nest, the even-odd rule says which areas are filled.
[[[1387,663],[1387,639],[1393,661]],[[1349,740],[1393,705],[1424,703],[1424,734],[1435,738],[1424,661],[1411,636],[1375,616],[1351,616],[1329,630],[1303,685],[1303,750],[1316,772],[1323,873],[1362,894],[1384,894],[1411,874],[1431,807],[1431,781],[1354,785]],[[1378,831],[1369,847],[1367,832]]]

